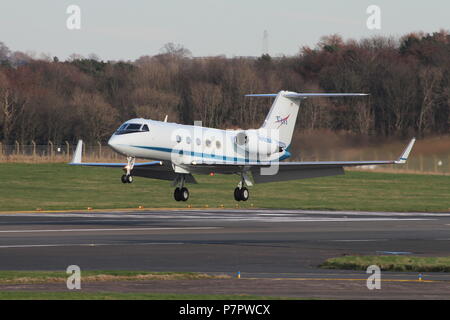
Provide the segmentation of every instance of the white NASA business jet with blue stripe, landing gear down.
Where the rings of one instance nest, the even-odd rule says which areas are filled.
[[[149,119],[131,119],[122,124],[108,141],[109,146],[127,157],[126,163],[82,162],[78,141],[71,165],[122,168],[123,183],[133,176],[170,180],[174,198],[189,198],[187,183],[197,183],[193,174],[236,174],[236,201],[249,198],[253,183],[287,181],[344,174],[344,167],[403,164],[414,145],[412,139],[396,160],[282,162],[290,157],[289,147],[302,99],[310,97],[365,96],[363,93],[249,94],[249,97],[274,97],[275,100],[258,129],[219,130],[201,125],[182,125]],[[156,161],[135,162],[136,158]]]

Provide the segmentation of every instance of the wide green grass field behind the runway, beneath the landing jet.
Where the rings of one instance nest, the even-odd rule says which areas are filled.
[[[173,200],[168,181],[136,177],[122,184],[122,171],[66,164],[0,164],[0,211],[100,208],[234,208],[236,175],[197,176],[186,202]],[[259,184],[241,207],[450,211],[450,177],[347,172],[344,176]]]

